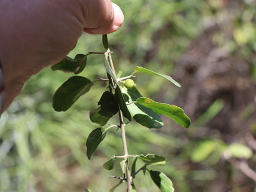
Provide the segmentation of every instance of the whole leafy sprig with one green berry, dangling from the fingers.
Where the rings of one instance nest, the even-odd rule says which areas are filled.
[[[163,122],[159,114],[163,114],[175,120],[185,128],[188,128],[190,125],[190,119],[184,114],[184,111],[181,108],[166,103],[158,103],[152,99],[142,97],[140,92],[135,88],[134,81],[131,78],[135,77],[134,75],[136,73],[145,73],[166,78],[178,87],[180,87],[180,84],[170,76],[161,75],[143,67],[134,68],[134,72],[129,76],[121,77],[121,71],[116,75],[111,58],[112,52],[110,51],[109,42],[107,41],[107,35],[103,35],[103,46],[107,50],[106,52],[89,52],[85,55],[78,54],[75,59],[66,57],[61,62],[51,67],[53,71],[60,70],[75,73],[75,75],[77,75],[86,67],[88,55],[100,54],[104,55],[104,67],[107,72],[107,78],[97,78],[95,81],[90,81],[88,78],[83,76],[73,76],[68,78],[68,80],[55,92],[53,108],[55,111],[66,111],[77,101],[77,99],[79,99],[79,97],[88,93],[93,84],[101,81],[107,82],[105,89],[108,90],[105,90],[101,99],[99,99],[99,107],[96,110],[90,111],[90,120],[93,123],[99,124],[101,127],[94,129],[88,136],[86,141],[86,154],[88,159],[91,159],[98,145],[103,141],[110,129],[120,129],[124,155],[111,156],[111,158],[103,164],[103,168],[107,170],[113,169],[116,159],[120,158],[122,159],[120,165],[124,176],[112,176],[114,178],[118,178],[120,182],[110,191],[114,191],[116,187],[123,182],[127,182],[127,191],[136,191],[133,179],[140,171],[143,171],[144,174],[148,171],[151,179],[161,191],[174,191],[171,180],[164,173],[153,171],[148,168],[150,165],[164,165],[166,163],[166,158],[155,154],[128,154],[125,125],[134,119],[137,123],[150,129],[162,128]],[[119,117],[119,124],[109,124],[109,126],[104,126],[108,123],[111,117],[116,114],[118,114]],[[127,121],[127,123],[125,123],[125,121]],[[129,166],[129,158],[134,159],[131,168]],[[140,169],[136,170],[137,159],[142,160],[145,164]],[[86,189],[85,191],[89,190]]]

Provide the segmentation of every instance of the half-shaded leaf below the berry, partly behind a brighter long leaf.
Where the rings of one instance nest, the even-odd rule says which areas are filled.
[[[140,92],[138,92],[136,88],[122,88],[122,92],[124,93],[125,101],[131,103],[128,104],[127,107],[133,119],[136,120],[137,123],[150,129],[158,129],[163,127],[163,122],[160,118],[160,115],[156,114],[150,108],[142,106],[141,104],[132,103],[136,101],[137,98],[142,97],[142,95],[140,94]]]

